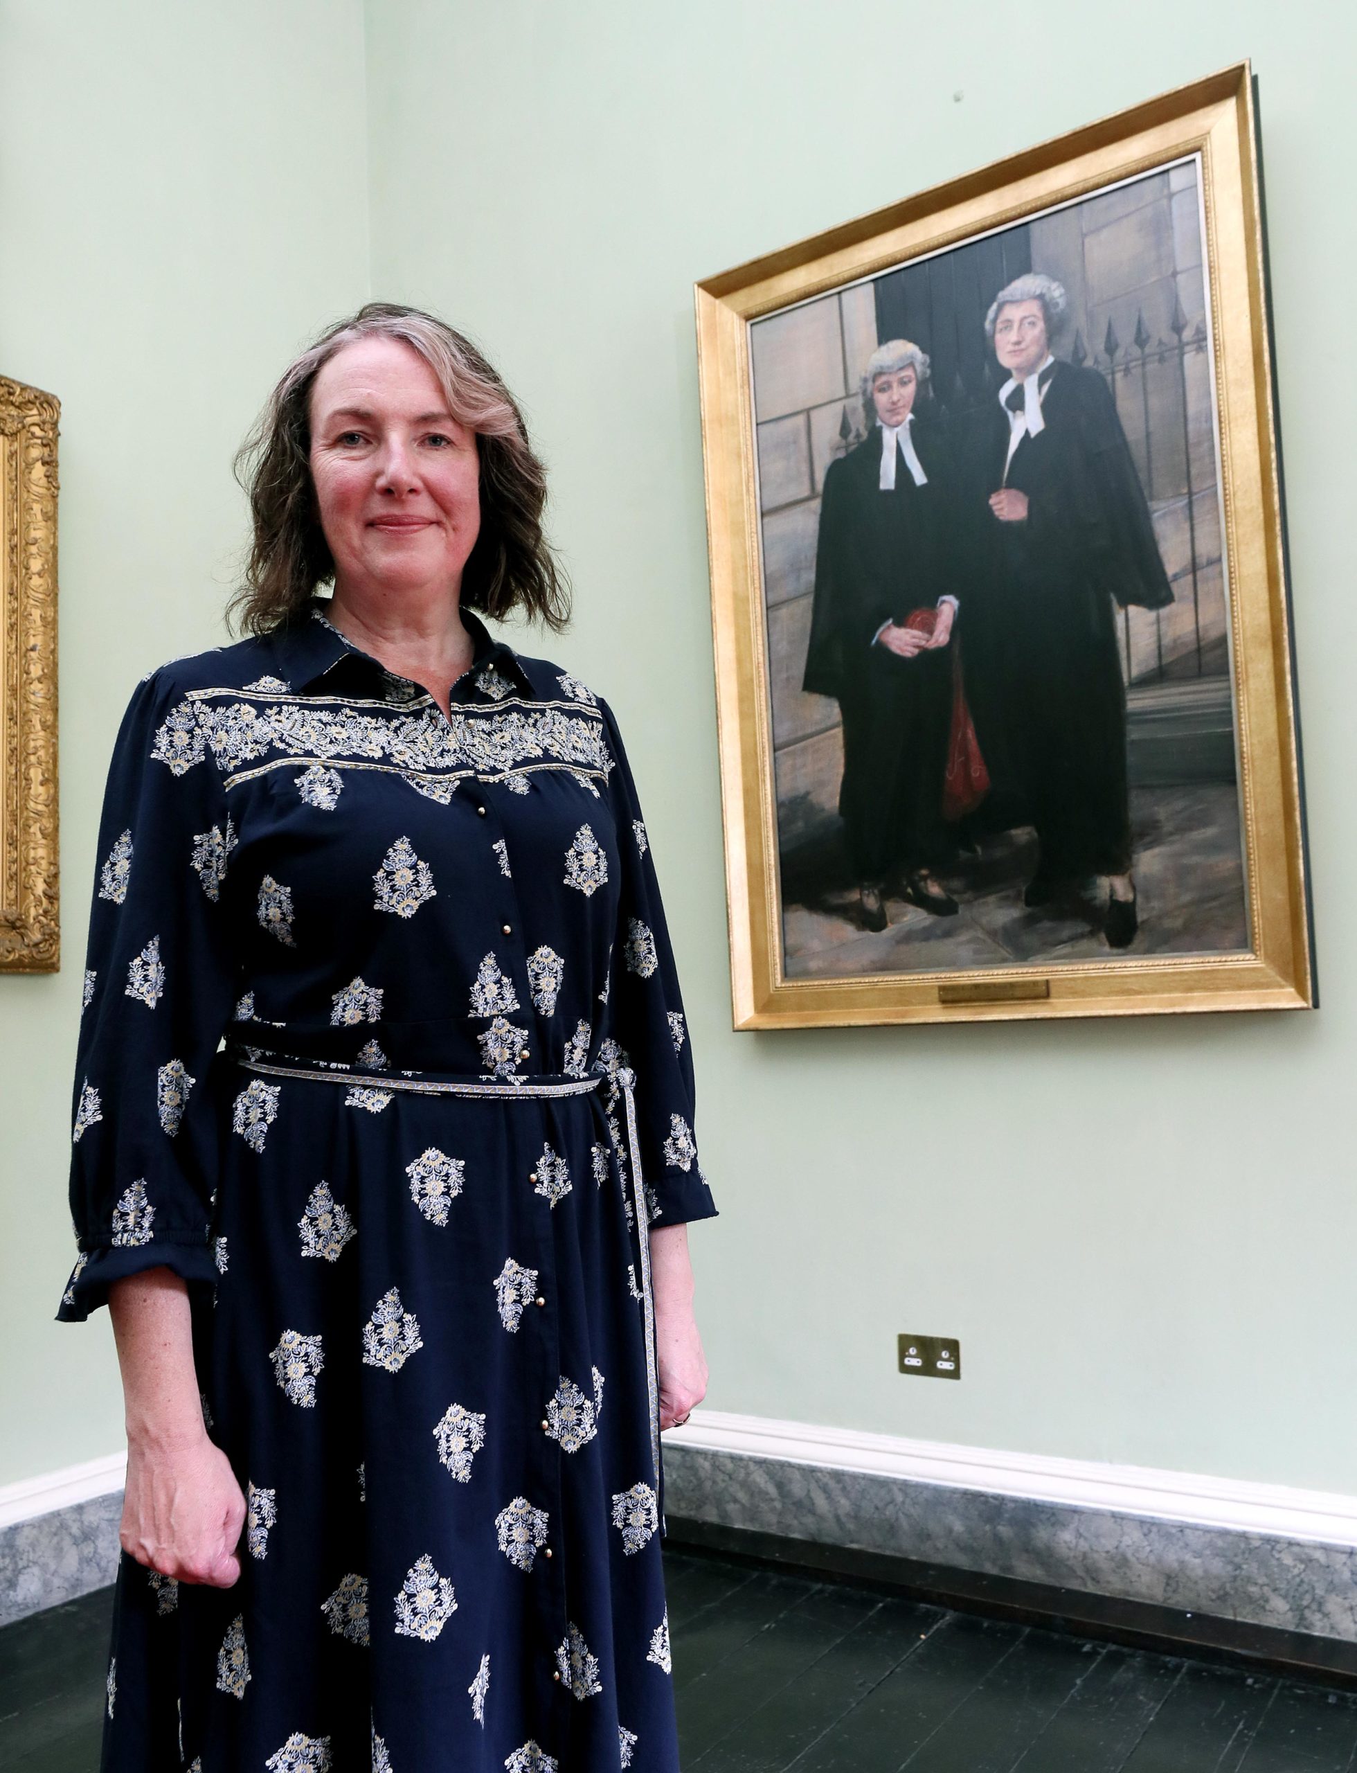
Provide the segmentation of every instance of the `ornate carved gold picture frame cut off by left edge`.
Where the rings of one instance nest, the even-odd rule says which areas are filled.
[[[60,966],[57,846],[57,424],[0,376],[0,972]]]

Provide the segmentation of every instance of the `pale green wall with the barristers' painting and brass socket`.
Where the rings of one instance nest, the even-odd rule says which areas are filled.
[[[372,287],[523,392],[618,709],[723,1218],[725,1410],[1357,1491],[1352,9],[370,0]],[[1327,1007],[732,1034],[693,282],[1252,55]],[[960,101],[953,99],[962,92]],[[909,1381],[898,1330],[958,1335]]]

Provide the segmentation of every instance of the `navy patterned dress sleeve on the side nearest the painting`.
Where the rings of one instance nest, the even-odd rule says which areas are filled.
[[[609,1030],[634,1073],[641,1172],[650,1223],[714,1218],[698,1161],[693,1050],[659,881],[636,784],[613,711],[601,702],[615,768],[608,796],[622,853],[618,922],[609,970]],[[615,1050],[611,1050],[615,1051]]]

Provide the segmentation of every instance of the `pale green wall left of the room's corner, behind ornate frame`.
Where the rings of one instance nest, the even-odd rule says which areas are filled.
[[[0,977],[0,1484],[113,1452],[108,1314],[51,1316],[99,798],[122,707],[220,638],[230,456],[367,294],[358,0],[0,0],[0,371],[62,401],[62,947]]]

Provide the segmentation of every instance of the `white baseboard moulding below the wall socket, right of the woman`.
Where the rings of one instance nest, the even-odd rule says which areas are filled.
[[[1357,1546],[1357,1496],[1322,1489],[1194,1477],[1190,1472],[1100,1464],[1093,1459],[994,1452],[989,1447],[863,1434],[811,1422],[732,1415],[725,1410],[694,1410],[686,1427],[666,1433],[664,1443],[742,1459],[787,1459],[912,1484],[1026,1496],[1104,1514],[1217,1527],[1222,1532]]]

